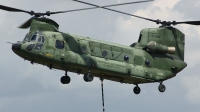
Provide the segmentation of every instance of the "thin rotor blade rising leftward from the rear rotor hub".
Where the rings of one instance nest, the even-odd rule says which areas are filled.
[[[133,15],[133,14],[121,12],[121,11],[106,8],[106,7],[101,7],[101,6],[98,6],[98,5],[95,5],[95,4],[91,4],[91,3],[87,3],[87,2],[83,2],[83,1],[79,1],[79,0],[73,0],[73,1],[80,2],[80,3],[83,3],[83,4],[87,4],[87,5],[91,5],[91,6],[95,6],[95,7],[98,7],[98,8],[103,8],[103,9],[106,9],[106,10],[110,10],[110,11],[113,11],[113,12],[129,15],[129,16],[137,17],[137,18],[140,18],[140,19],[145,19],[145,20],[148,20],[148,21],[156,22],[157,24],[160,23],[160,20],[153,20],[153,19],[149,19],[149,18],[144,18],[144,17],[136,16],[136,15]]]

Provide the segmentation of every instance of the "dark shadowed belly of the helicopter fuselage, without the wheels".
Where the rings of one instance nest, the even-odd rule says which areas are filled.
[[[22,52],[18,52],[17,50],[13,50],[13,51],[18,56],[24,58],[25,60],[30,61],[31,64],[38,63],[41,65],[47,66],[50,69],[58,69],[58,70],[66,71],[66,72],[69,71],[69,72],[83,74],[83,75],[88,73],[88,71],[90,71],[94,75],[94,77],[98,77],[100,79],[103,78],[103,79],[107,79],[107,80],[111,80],[115,82],[135,84],[135,85],[143,84],[143,83],[159,82],[158,80],[147,79],[144,77],[139,77],[139,76],[134,76],[134,75],[129,75],[129,74],[124,75],[115,71],[107,71],[107,70],[102,70],[102,69],[97,69],[97,68],[88,69],[88,67],[86,66],[80,66],[78,64],[73,64],[73,63],[56,63],[53,60],[44,61],[44,57],[42,55],[28,57],[26,53],[22,54]]]

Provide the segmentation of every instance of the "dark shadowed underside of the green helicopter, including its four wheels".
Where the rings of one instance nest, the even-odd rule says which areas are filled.
[[[150,79],[145,79],[142,77],[137,77],[137,76],[130,76],[130,75],[123,75],[123,74],[118,74],[117,72],[109,72],[109,71],[104,71],[104,70],[98,70],[98,69],[90,69],[90,71],[88,71],[88,68],[85,66],[80,66],[77,64],[66,64],[66,63],[62,63],[62,64],[54,64],[52,65],[51,62],[53,62],[52,60],[49,60],[48,62],[44,61],[41,55],[35,56],[37,58],[30,58],[25,56],[25,54],[20,54],[17,50],[13,50],[18,56],[24,58],[25,60],[29,60],[32,64],[34,63],[38,63],[44,66],[49,67],[50,69],[59,69],[59,70],[64,70],[66,71],[65,76],[61,77],[61,83],[62,84],[68,84],[70,82],[70,77],[67,75],[67,71],[73,72],[73,73],[77,73],[78,75],[80,74],[84,74],[83,75],[83,79],[86,82],[91,82],[93,80],[93,76],[94,77],[98,77],[100,78],[100,80],[103,81],[103,79],[107,79],[110,81],[115,81],[115,82],[120,82],[120,83],[128,83],[128,84],[134,84],[136,85],[133,88],[133,92],[135,94],[139,94],[140,93],[140,87],[138,86],[138,84],[143,84],[143,83],[153,83],[153,82],[159,82],[159,86],[158,86],[158,90],[160,92],[164,92],[166,90],[166,87],[164,84],[162,84],[162,82],[164,81],[156,81],[156,80],[150,80]],[[85,77],[87,77],[88,74],[92,74],[92,79],[89,80]],[[174,75],[175,76],[175,75]]]

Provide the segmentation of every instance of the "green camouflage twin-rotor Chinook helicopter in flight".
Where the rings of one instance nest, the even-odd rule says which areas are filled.
[[[135,94],[140,93],[138,84],[153,82],[159,82],[158,89],[160,92],[164,92],[166,87],[163,81],[176,76],[187,66],[184,62],[185,35],[171,25],[200,25],[200,21],[166,22],[108,8],[136,2],[98,6],[79,0],[73,1],[94,7],[35,13],[0,5],[2,10],[25,12],[34,16],[20,27],[30,27],[30,31],[23,41],[12,44],[14,53],[31,63],[39,63],[50,69],[66,71],[65,76],[61,77],[62,84],[70,83],[70,77],[67,75],[67,71],[70,71],[84,74],[83,79],[86,82],[91,82],[94,77],[99,77],[101,80],[134,84],[136,85],[133,89]],[[60,32],[59,25],[55,21],[44,17],[95,8],[134,16],[161,24],[161,26],[141,30],[138,42],[125,46]]]

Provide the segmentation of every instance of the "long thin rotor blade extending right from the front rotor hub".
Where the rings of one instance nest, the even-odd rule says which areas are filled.
[[[58,12],[50,12],[49,14],[58,14],[58,13],[66,13],[66,12],[75,12],[75,11],[81,11],[81,10],[89,10],[89,9],[96,9],[96,8],[105,8],[105,7],[114,7],[114,6],[120,6],[120,5],[128,5],[128,4],[135,4],[135,3],[143,3],[143,2],[151,2],[154,0],[144,0],[144,1],[137,1],[137,2],[128,2],[128,3],[120,3],[120,4],[113,4],[113,5],[105,5],[105,6],[95,6],[91,8],[82,8],[82,9],[74,9],[74,10],[67,10],[67,11],[58,11]]]

